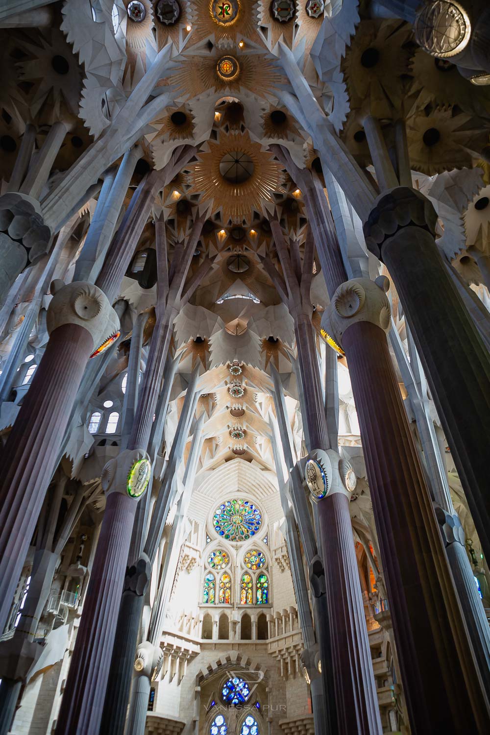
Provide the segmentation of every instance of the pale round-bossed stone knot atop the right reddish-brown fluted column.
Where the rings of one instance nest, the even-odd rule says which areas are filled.
[[[356,278],[342,283],[322,317],[322,331],[342,347],[342,337],[357,322],[370,322],[389,331],[391,309],[386,291],[389,279],[378,276],[375,281]]]

